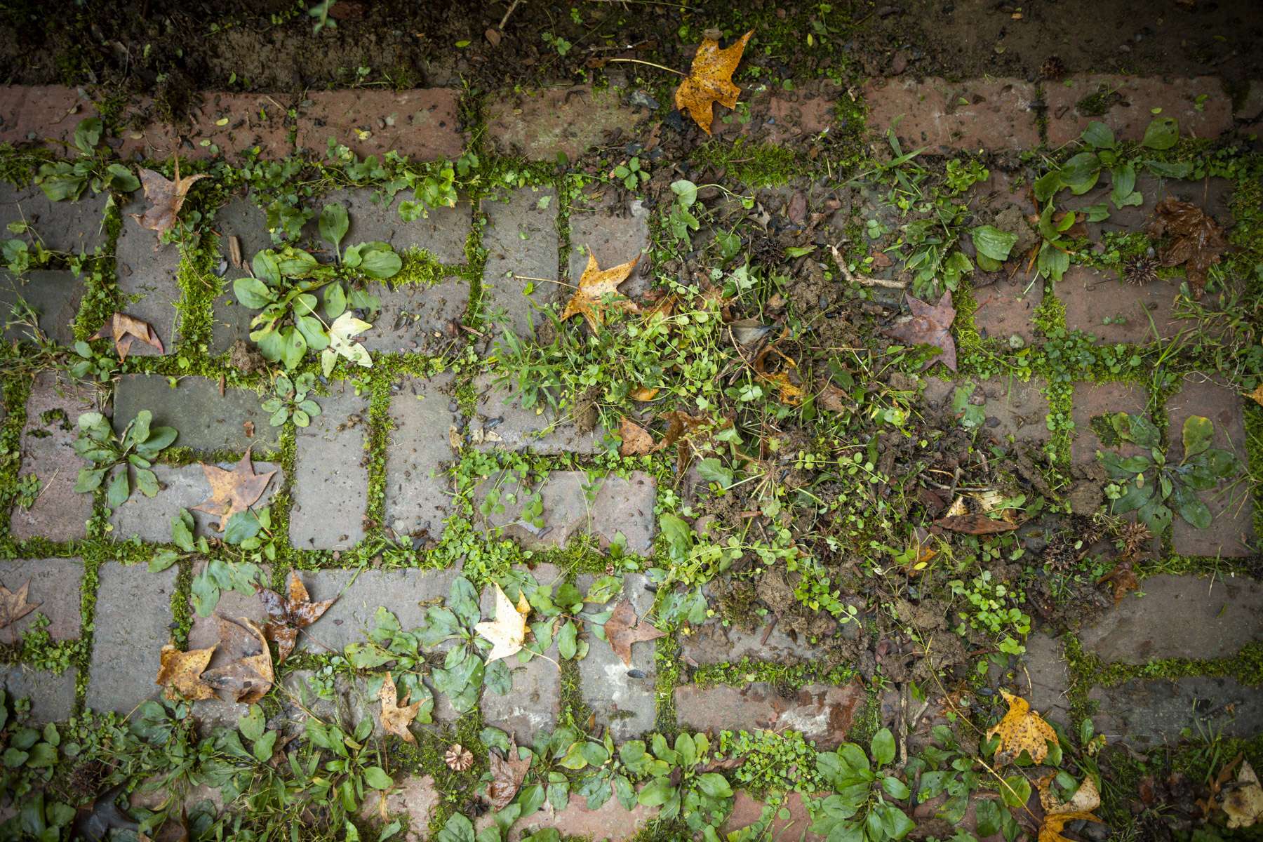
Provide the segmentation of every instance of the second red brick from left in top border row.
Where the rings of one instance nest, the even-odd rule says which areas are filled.
[[[187,121],[172,125],[150,120],[139,129],[124,129],[119,155],[154,160],[176,153],[181,158],[239,158],[259,146],[264,158],[284,158],[293,151],[285,101],[282,95],[206,92]],[[152,107],[152,102],[141,100],[133,111],[144,114]]]

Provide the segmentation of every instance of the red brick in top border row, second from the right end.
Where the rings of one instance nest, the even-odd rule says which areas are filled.
[[[902,116],[895,134],[904,151],[946,149],[1026,149],[1039,144],[1031,106],[1034,87],[1018,80],[941,78],[874,80],[864,86],[868,125],[885,135]]]

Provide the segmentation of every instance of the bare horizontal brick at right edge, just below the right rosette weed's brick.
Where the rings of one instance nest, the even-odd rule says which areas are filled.
[[[1263,640],[1263,584],[1242,577],[1151,576],[1079,632],[1106,664],[1161,658],[1231,658]]]

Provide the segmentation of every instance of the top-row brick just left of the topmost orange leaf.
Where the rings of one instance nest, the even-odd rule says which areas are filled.
[[[590,85],[549,87],[488,107],[488,135],[501,154],[532,160],[556,160],[558,153],[575,160],[587,150],[615,143],[645,115],[624,105],[611,90]]]

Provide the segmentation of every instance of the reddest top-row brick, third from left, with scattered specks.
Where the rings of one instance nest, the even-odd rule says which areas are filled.
[[[323,155],[328,139],[361,158],[392,149],[412,160],[456,158],[465,148],[460,91],[321,91],[298,109],[298,146]]]

